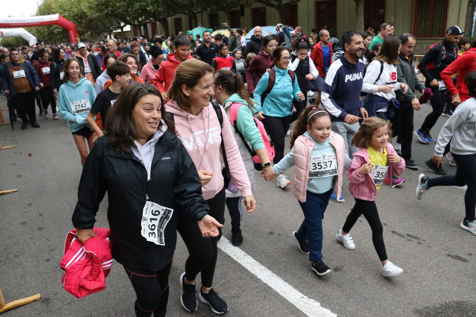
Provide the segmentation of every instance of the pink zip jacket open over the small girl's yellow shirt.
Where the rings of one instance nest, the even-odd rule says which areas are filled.
[[[390,143],[387,143],[387,153],[395,153],[395,149]],[[367,149],[360,148],[356,153],[354,153],[352,165],[347,170],[347,178],[350,181],[349,191],[354,198],[372,202],[375,200],[375,196],[377,196],[377,187],[375,187],[374,180],[370,177],[370,173],[360,175],[357,172],[360,166],[367,164],[368,162],[370,162],[370,159],[368,157]],[[384,184],[392,185],[392,175],[401,175],[404,171],[404,159],[402,159],[402,162],[398,164],[390,163],[387,175],[384,179]]]

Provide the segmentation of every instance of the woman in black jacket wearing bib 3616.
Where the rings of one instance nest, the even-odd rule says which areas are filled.
[[[222,226],[208,215],[197,169],[174,130],[159,91],[129,85],[109,109],[105,135],[79,182],[76,236],[83,243],[94,236],[95,215],[108,192],[112,256],[134,287],[136,316],[165,316],[178,214],[198,222],[204,237],[218,236]]]

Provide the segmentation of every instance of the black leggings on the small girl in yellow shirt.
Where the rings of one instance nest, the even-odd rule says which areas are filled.
[[[348,214],[346,222],[342,227],[342,231],[348,233],[356,223],[358,217],[364,215],[370,225],[370,229],[372,229],[372,241],[374,242],[378,258],[380,261],[388,259],[384,243],[384,228],[382,227],[382,222],[380,222],[375,202],[369,202],[357,198],[354,198],[354,200],[356,201],[356,204]]]

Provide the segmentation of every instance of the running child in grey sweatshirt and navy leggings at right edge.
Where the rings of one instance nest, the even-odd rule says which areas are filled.
[[[438,135],[433,162],[437,167],[443,162],[443,152],[450,143],[450,151],[456,161],[456,174],[429,178],[425,174],[418,176],[417,199],[435,186],[464,186],[466,217],[460,227],[476,235],[476,70],[465,77],[470,98],[456,107],[453,115],[446,121]]]

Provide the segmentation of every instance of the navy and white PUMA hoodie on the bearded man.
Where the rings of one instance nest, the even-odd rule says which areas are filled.
[[[321,102],[331,121],[343,122],[346,115],[361,116],[360,91],[364,82],[364,62],[352,64],[341,55],[327,71],[322,87]]]

